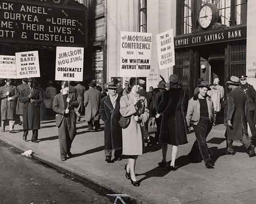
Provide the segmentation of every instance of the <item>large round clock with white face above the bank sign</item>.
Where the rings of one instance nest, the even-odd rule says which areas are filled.
[[[201,28],[209,28],[219,18],[219,10],[215,4],[206,3],[199,10],[198,23]]]

